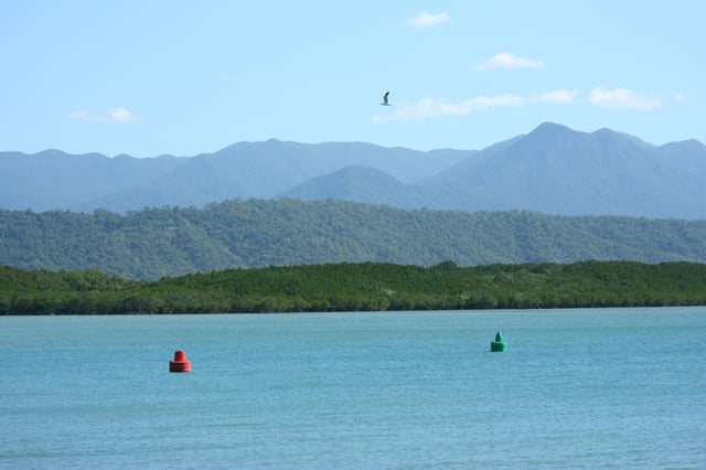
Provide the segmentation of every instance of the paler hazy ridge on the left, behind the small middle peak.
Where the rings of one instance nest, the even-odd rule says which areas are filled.
[[[378,169],[411,182],[473,153],[276,139],[239,142],[213,153],[181,158],[108,158],[58,150],[0,152],[0,172],[12,182],[0,189],[0,207],[125,212],[165,205],[202,206],[227,199],[276,197],[307,180],[350,165]]]

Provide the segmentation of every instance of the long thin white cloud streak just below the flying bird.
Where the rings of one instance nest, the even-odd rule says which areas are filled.
[[[373,122],[388,122],[394,120],[427,119],[437,116],[468,116],[472,111],[486,110],[500,106],[522,106],[526,99],[512,95],[477,96],[458,103],[442,98],[422,98],[415,105],[406,105],[391,115],[375,116]]]

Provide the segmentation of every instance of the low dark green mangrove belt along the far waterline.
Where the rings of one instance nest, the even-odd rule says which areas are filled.
[[[333,264],[157,281],[0,267],[0,313],[180,313],[706,305],[706,265],[634,261],[462,268]]]

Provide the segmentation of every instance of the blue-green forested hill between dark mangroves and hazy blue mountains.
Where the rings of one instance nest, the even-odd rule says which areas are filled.
[[[332,263],[706,263],[706,221],[232,200],[204,209],[0,211],[0,265],[157,279]]]

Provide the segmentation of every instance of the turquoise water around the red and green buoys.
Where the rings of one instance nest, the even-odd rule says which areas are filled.
[[[0,354],[0,468],[706,467],[705,308],[3,317]]]

